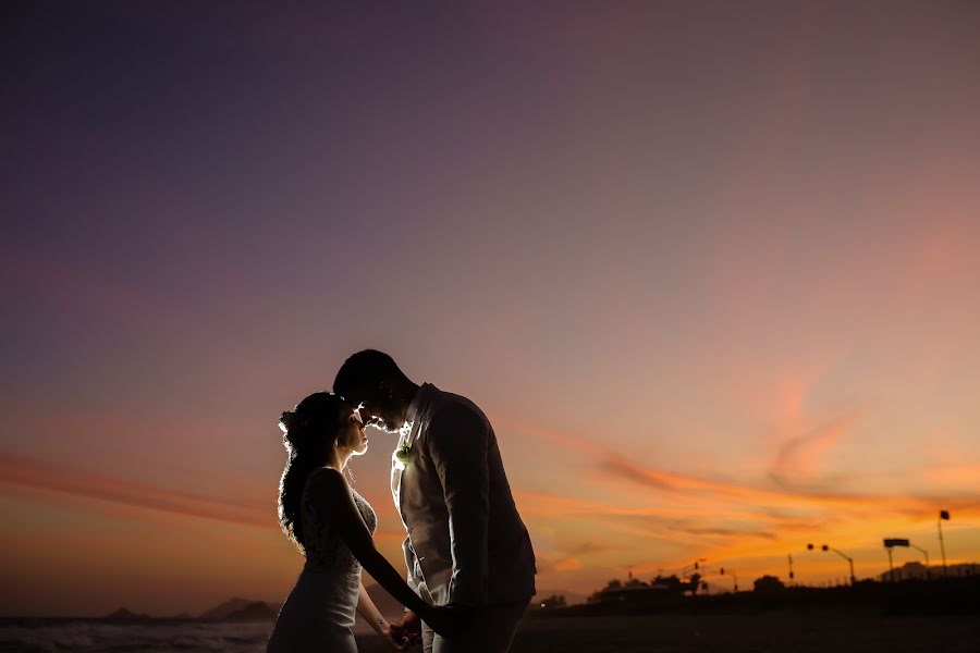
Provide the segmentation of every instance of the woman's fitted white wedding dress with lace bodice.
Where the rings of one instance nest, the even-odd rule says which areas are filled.
[[[309,475],[301,500],[306,564],[279,611],[267,653],[357,652],[352,628],[360,590],[360,563],[310,501],[309,479],[321,469]],[[353,488],[351,494],[373,534],[378,526],[375,510]]]

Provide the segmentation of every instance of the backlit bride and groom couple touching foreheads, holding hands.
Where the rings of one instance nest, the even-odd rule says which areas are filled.
[[[367,452],[368,426],[399,435],[391,493],[407,535],[404,577],[375,546],[375,512],[345,476]],[[535,594],[535,554],[476,404],[418,385],[367,349],[341,366],[333,393],[304,398],[280,428],[289,461],[279,518],[306,564],[268,653],[356,653],[355,612],[397,651],[419,642],[426,653],[507,651]],[[362,567],[405,606],[397,623],[378,612]]]

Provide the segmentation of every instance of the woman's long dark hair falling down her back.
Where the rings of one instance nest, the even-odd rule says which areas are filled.
[[[351,407],[335,394],[316,392],[279,419],[289,459],[279,481],[279,525],[297,549],[306,553],[299,503],[306,477],[322,467],[335,445],[338,427]]]

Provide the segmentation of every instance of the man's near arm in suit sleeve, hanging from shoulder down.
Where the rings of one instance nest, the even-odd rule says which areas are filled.
[[[433,416],[426,438],[449,513],[453,555],[449,602],[486,605],[490,514],[487,422],[466,406],[452,406]]]

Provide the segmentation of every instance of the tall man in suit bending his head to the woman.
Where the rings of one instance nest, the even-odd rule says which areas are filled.
[[[365,422],[399,433],[391,493],[408,537],[408,584],[470,617],[462,638],[421,625],[426,653],[505,653],[535,594],[535,553],[517,514],[497,436],[469,399],[413,383],[391,356],[351,356],[333,392]],[[417,629],[406,612],[401,626]]]

